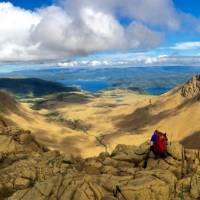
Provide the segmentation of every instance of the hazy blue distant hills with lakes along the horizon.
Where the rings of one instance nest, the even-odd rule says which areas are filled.
[[[127,68],[61,68],[23,70],[0,73],[0,77],[39,78],[75,85],[87,91],[115,88],[137,88],[149,94],[159,95],[190,77],[200,73],[200,67],[127,67]],[[99,84],[100,87],[97,87]]]

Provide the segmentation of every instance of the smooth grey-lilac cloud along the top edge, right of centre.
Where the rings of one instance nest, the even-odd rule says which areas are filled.
[[[158,25],[172,30],[180,27],[179,14],[172,0],[63,0],[72,14],[84,7],[103,10],[106,13],[121,14],[149,25]]]

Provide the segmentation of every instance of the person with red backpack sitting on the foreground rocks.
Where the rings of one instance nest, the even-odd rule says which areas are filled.
[[[151,137],[150,150],[154,152],[156,156],[165,157],[167,155],[167,134],[155,130]]]

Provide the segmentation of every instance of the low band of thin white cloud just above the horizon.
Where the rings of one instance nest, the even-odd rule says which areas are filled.
[[[58,66],[63,68],[109,68],[109,67],[140,67],[140,66],[200,66],[200,56],[170,56],[166,54],[155,55],[153,52],[131,53],[131,57],[126,57],[126,53],[116,54],[118,60],[102,60],[101,56],[93,60],[75,60],[60,62]],[[110,55],[110,57],[114,56]]]

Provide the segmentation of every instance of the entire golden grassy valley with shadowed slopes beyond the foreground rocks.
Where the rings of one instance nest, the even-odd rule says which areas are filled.
[[[199,97],[200,77],[196,76],[161,96],[120,89],[96,95],[62,92],[18,103],[19,113],[14,112],[14,100],[2,95],[0,102],[2,108],[9,108],[4,118],[31,130],[48,147],[91,157],[111,152],[119,143],[139,145],[155,129],[166,132],[169,141],[199,148]],[[37,110],[31,109],[33,105]]]

